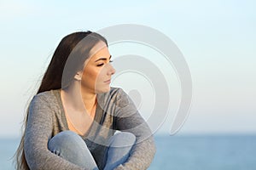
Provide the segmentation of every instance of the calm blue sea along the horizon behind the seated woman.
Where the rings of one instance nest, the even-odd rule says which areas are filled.
[[[149,170],[256,170],[256,134],[155,135]],[[15,169],[19,139],[0,139],[0,170]]]

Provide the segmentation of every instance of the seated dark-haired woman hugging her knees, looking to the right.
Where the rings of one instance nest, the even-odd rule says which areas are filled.
[[[61,40],[28,107],[17,169],[148,168],[152,134],[128,95],[109,87],[110,59],[96,32]]]

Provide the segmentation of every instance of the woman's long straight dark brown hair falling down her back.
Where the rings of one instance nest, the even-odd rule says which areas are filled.
[[[67,88],[73,81],[76,72],[83,68],[85,59],[89,57],[90,49],[100,41],[105,42],[108,46],[107,40],[96,32],[79,31],[63,37],[44,73],[37,94],[52,89]],[[66,65],[67,62],[71,63],[71,66],[70,64]],[[63,78],[63,75],[65,75],[65,78]],[[15,153],[16,169],[18,170],[29,170],[24,153],[27,116],[28,108],[23,123],[25,128]]]

